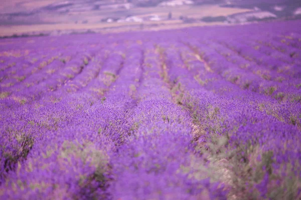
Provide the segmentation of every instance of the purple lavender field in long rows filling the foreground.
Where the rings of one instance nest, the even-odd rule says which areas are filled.
[[[301,21],[0,40],[1,199],[301,199]]]

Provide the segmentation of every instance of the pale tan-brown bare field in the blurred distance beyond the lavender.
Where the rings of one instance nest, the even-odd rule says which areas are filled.
[[[20,0],[22,1],[22,0]],[[38,5],[44,5],[54,0],[46,0],[39,2]],[[22,3],[23,6],[35,4],[36,1],[29,1]],[[37,5],[36,5],[37,6]],[[2,5],[3,7],[3,5]],[[135,7],[130,9],[104,9],[104,10],[89,10],[82,12],[45,12],[38,13],[33,16],[22,16],[22,20],[27,21],[26,24],[6,24],[0,25],[0,36],[21,35],[23,33],[49,33],[59,30],[63,31],[85,31],[93,30],[96,32],[116,32],[128,30],[158,30],[169,29],[177,27],[189,26],[203,26],[203,25],[217,25],[223,22],[200,22],[195,21],[192,23],[184,23],[180,20],[180,16],[193,17],[200,19],[204,16],[227,16],[234,13],[246,12],[249,9],[220,7],[219,5],[184,5],[177,7]],[[167,20],[168,13],[172,12],[172,20]],[[107,17],[120,17],[125,18],[128,15],[137,17],[145,17],[147,15],[156,14],[161,17],[160,21],[143,21],[143,22],[102,22],[103,18]],[[26,18],[27,17],[27,18]],[[31,20],[39,18],[37,23]],[[83,21],[86,21],[83,23]],[[142,24],[142,25],[141,25]]]

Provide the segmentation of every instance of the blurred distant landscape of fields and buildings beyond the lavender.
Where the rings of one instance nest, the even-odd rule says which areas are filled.
[[[159,30],[301,18],[301,0],[2,0],[0,36]]]

